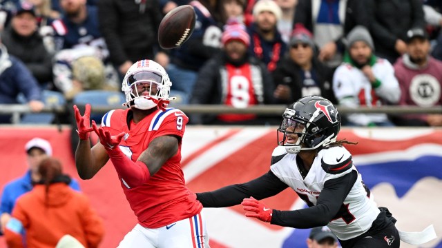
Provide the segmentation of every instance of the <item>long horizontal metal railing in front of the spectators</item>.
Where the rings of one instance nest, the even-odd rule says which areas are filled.
[[[71,107],[71,106],[68,106]],[[224,105],[175,105],[186,114],[258,114],[258,115],[274,115],[280,116],[284,112],[287,105],[259,105],[247,108],[234,108]],[[92,107],[92,112],[106,113],[109,110],[116,108],[125,108],[120,105],[99,105]],[[442,114],[442,107],[417,107],[417,106],[381,106],[381,107],[342,107],[337,106],[340,114],[352,114],[352,113],[385,113],[385,114]],[[45,107],[42,112],[53,112],[64,114],[66,113],[66,107]],[[17,124],[20,121],[20,115],[30,113],[30,107],[28,105],[20,104],[0,104],[0,114],[12,114],[12,123]]]

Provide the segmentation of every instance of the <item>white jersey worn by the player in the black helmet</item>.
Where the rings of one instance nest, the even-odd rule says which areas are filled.
[[[305,179],[296,163],[297,154],[288,154],[285,147],[276,147],[272,156],[282,158],[271,165],[271,172],[294,189],[309,207],[316,205],[327,180],[339,178],[352,171],[357,172],[352,163],[352,155],[344,147],[320,150]],[[363,184],[361,174],[358,174],[340,211],[327,226],[340,240],[349,240],[372,227],[372,222],[379,213],[372,194]]]

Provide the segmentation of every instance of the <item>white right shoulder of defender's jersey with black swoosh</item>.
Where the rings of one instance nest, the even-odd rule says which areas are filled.
[[[352,154],[344,147],[323,149],[321,166],[329,174],[340,174],[353,167]]]

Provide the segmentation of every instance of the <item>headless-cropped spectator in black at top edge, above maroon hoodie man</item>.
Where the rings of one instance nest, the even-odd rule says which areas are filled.
[[[422,0],[368,0],[365,3],[371,17],[369,30],[376,56],[396,62],[407,50],[407,31],[425,27]]]

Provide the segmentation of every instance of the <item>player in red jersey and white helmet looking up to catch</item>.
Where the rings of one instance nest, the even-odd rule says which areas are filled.
[[[172,83],[155,61],[134,63],[123,79],[127,110],[111,110],[101,127],[90,127],[74,106],[79,144],[75,164],[82,179],[93,178],[109,159],[138,218],[119,247],[209,247],[202,205],[184,182],[181,144],[187,116],[166,108]],[[100,142],[90,147],[89,132]]]

